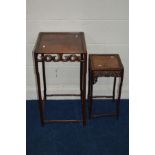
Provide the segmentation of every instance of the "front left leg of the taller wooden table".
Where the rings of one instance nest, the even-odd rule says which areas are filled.
[[[34,60],[35,60],[35,72],[36,72],[37,87],[38,87],[40,121],[41,121],[41,125],[43,126],[44,125],[44,111],[43,111],[43,101],[41,97],[40,75],[39,75],[37,54],[34,54]]]

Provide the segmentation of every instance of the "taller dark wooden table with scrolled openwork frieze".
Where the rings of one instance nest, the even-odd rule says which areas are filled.
[[[41,124],[46,122],[83,122],[86,125],[86,71],[87,50],[83,32],[40,32],[33,51],[35,73],[38,88]],[[47,94],[45,62],[80,62],[80,94]],[[38,63],[42,63],[44,93],[41,93],[41,81]],[[42,97],[43,96],[43,97]],[[82,120],[47,120],[44,115],[44,103],[48,96],[81,96]]]

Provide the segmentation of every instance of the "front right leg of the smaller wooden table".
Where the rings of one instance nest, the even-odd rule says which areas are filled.
[[[122,84],[123,84],[123,74],[120,77],[120,84],[119,84],[119,91],[118,91],[118,99],[116,101],[116,115],[117,119],[119,118],[119,113],[120,113],[120,98],[121,98],[121,91],[122,91]]]

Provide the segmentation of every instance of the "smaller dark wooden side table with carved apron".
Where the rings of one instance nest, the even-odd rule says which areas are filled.
[[[119,117],[120,97],[123,84],[124,67],[118,54],[90,54],[89,55],[89,84],[88,84],[88,102],[89,118],[100,116]],[[98,77],[114,77],[112,96],[93,96],[93,84],[97,82]],[[120,79],[118,98],[115,100],[116,78]],[[93,98],[112,98],[116,103],[116,111],[112,113],[92,114]]]

